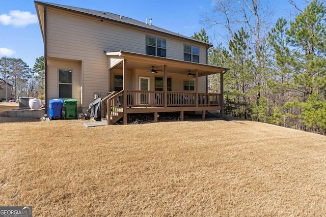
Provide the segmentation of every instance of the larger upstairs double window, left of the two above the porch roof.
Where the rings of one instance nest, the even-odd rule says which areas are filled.
[[[165,39],[146,36],[146,54],[166,57],[167,41]]]

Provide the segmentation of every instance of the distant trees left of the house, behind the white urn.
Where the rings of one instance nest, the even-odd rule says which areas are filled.
[[[7,82],[12,85],[11,99],[19,97],[44,99],[44,73],[43,56],[36,58],[32,69],[20,58],[4,56],[0,59],[0,84],[5,86]]]

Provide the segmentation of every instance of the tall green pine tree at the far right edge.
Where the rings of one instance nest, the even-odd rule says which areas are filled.
[[[325,13],[323,4],[313,0],[295,17],[286,32],[294,48],[290,61],[294,69],[293,81],[303,102],[325,81]]]

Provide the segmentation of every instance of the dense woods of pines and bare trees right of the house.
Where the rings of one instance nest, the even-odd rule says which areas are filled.
[[[326,8],[318,0],[303,9],[289,3],[295,16],[270,26],[270,9],[259,0],[216,0],[218,19],[202,21],[228,36],[210,48],[208,61],[231,69],[224,76],[227,115],[325,135]],[[205,29],[193,37],[209,42]],[[220,91],[219,79],[209,76],[209,91]]]

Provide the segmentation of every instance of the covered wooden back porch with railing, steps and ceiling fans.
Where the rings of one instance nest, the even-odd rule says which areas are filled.
[[[126,124],[127,115],[137,113],[153,113],[155,122],[160,112],[180,112],[181,120],[186,111],[201,111],[203,119],[206,111],[223,115],[223,74],[229,69],[125,51],[105,54],[111,88],[101,102],[103,122],[112,124],[123,117]],[[121,73],[121,90],[113,72]],[[207,93],[206,76],[211,74],[220,74],[220,93]]]

